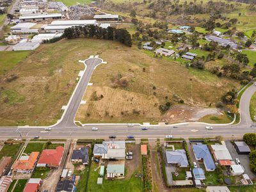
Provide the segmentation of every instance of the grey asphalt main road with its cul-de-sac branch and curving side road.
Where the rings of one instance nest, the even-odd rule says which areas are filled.
[[[250,118],[250,99],[256,92],[256,86],[252,85],[245,90],[240,100],[241,122],[237,125],[211,125],[212,130],[205,129],[204,123],[185,123],[176,125],[150,125],[148,130],[141,130],[141,125],[134,124],[133,127],[127,127],[126,124],[86,124],[79,127],[74,124],[74,118],[79,108],[79,104],[83,99],[84,92],[93,70],[102,63],[100,58],[89,58],[84,61],[87,67],[84,74],[79,80],[67,109],[61,120],[50,126],[51,131],[45,131],[46,127],[0,127],[0,138],[108,138],[109,135],[115,135],[116,139],[124,139],[127,136],[134,138],[164,138],[168,134],[172,134],[174,138],[204,138],[222,136],[223,138],[241,138],[246,132],[255,132],[256,127],[252,126],[253,122]],[[98,127],[98,131],[92,131],[92,127]]]

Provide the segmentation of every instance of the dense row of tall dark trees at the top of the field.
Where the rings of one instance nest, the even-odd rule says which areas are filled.
[[[67,28],[63,34],[64,37],[71,38],[98,38],[105,40],[115,40],[121,44],[132,46],[130,33],[126,29],[116,29],[112,27],[100,28],[99,26],[75,26]]]

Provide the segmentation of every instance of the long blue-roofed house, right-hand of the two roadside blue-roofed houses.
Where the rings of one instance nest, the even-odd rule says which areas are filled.
[[[216,169],[215,163],[212,159],[211,153],[207,145],[203,145],[202,143],[196,143],[195,145],[192,145],[192,148],[196,160],[204,161],[205,170],[207,170],[207,172],[211,172]]]

